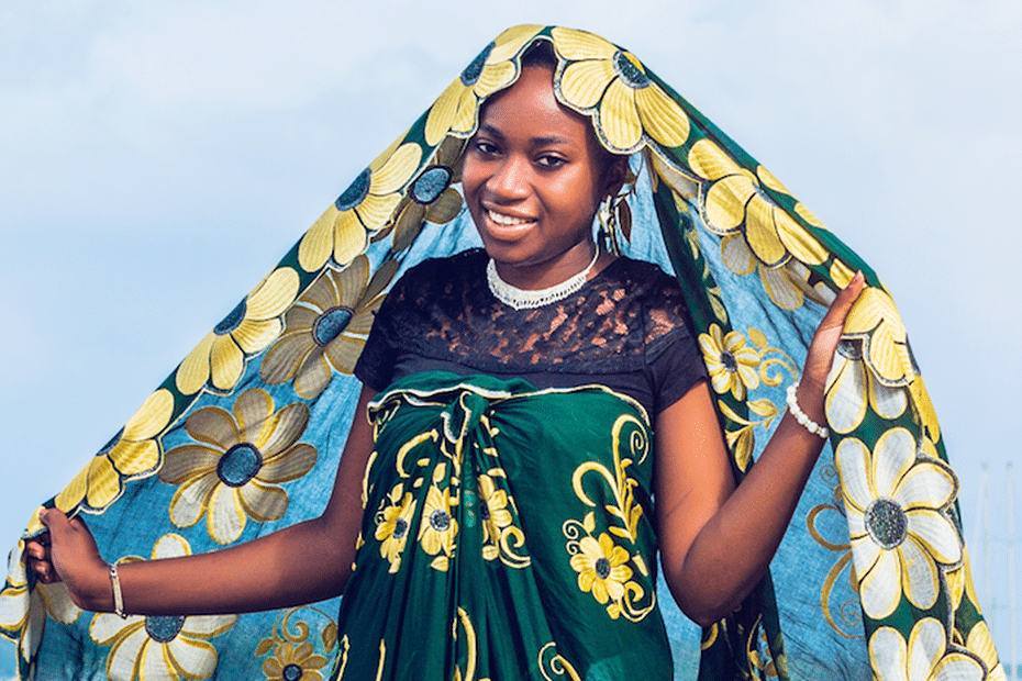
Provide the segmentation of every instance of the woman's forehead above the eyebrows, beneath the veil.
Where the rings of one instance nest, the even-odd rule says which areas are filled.
[[[523,139],[559,137],[586,149],[598,145],[589,119],[557,101],[553,80],[549,68],[524,67],[513,86],[484,104],[480,130]]]

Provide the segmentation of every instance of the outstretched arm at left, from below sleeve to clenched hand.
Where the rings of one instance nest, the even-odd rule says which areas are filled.
[[[144,615],[242,613],[321,601],[340,594],[352,571],[362,524],[362,479],[373,450],[363,388],[330,502],[316,518],[210,554],[122,563],[124,610]],[[43,582],[63,579],[71,599],[113,611],[110,571],[79,518],[43,516],[48,543],[29,543],[29,563]]]

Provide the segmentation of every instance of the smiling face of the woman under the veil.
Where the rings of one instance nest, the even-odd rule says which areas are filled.
[[[592,217],[620,182],[620,164],[608,163],[588,120],[557,101],[549,69],[525,67],[487,102],[462,172],[487,253],[522,288],[553,286],[588,265]]]

